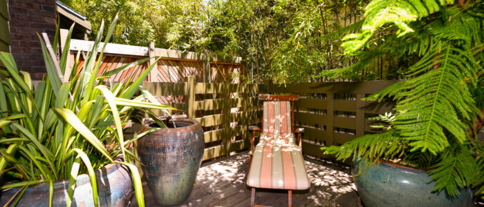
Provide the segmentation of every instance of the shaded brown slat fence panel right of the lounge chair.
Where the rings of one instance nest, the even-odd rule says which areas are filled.
[[[295,122],[304,128],[303,152],[315,157],[328,158],[319,149],[322,146],[341,145],[365,133],[382,132],[370,125],[378,114],[391,112],[393,103],[362,101],[397,81],[354,81],[331,83],[268,84],[261,86],[271,94],[299,94],[295,102]]]

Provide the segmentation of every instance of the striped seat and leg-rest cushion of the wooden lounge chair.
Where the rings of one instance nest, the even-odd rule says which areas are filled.
[[[284,190],[309,188],[304,159],[293,140],[293,134],[261,134],[252,154],[248,186]]]

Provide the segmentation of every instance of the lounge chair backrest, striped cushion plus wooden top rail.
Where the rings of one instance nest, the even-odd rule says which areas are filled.
[[[262,132],[268,134],[292,133],[294,107],[299,95],[259,95],[263,103]]]

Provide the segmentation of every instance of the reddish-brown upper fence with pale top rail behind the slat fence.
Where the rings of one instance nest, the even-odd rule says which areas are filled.
[[[61,30],[61,39],[66,39],[66,30]],[[64,43],[62,44],[62,47]],[[77,52],[89,52],[92,50],[93,41],[84,41],[80,39],[71,39],[70,43],[70,68],[73,67]],[[154,43],[148,47],[128,46],[122,44],[108,43],[104,48],[104,55],[101,59],[101,67],[98,76],[104,71],[113,70],[120,66],[126,65],[133,61],[153,57],[150,61],[133,66],[112,75],[106,81],[128,81],[131,75],[138,77],[142,71],[154,63],[156,58],[162,57],[156,62],[156,67],[151,70],[145,81],[151,82],[183,82],[185,77],[196,77],[196,82],[205,83],[239,83],[240,76],[234,74],[243,74],[243,65],[240,57],[223,57],[209,55],[198,52],[185,52],[179,50],[165,50],[155,48]],[[80,55],[80,64],[75,68],[79,70],[84,65],[82,55]]]

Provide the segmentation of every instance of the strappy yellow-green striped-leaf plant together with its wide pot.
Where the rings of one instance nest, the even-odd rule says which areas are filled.
[[[116,16],[106,32],[104,47],[117,20]],[[127,206],[133,188],[138,205],[144,206],[140,175],[131,164],[136,157],[127,150],[141,135],[126,140],[123,128],[135,108],[149,112],[169,107],[145,101],[143,96],[133,98],[153,65],[138,79],[103,85],[106,77],[148,60],[97,77],[104,50],[100,48],[103,26],[104,22],[91,52],[82,54],[84,64],[78,72],[66,67],[73,26],[59,60],[55,55],[58,30],[52,46],[43,34],[48,75],[35,90],[30,75],[17,70],[12,55],[0,53],[6,68],[0,69],[2,206]],[[81,53],[73,68],[79,66]]]

